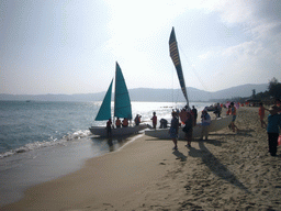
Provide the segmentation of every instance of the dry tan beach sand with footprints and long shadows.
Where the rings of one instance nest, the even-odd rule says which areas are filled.
[[[176,152],[140,135],[0,210],[281,210],[281,153],[268,153],[258,108],[240,108],[236,125]]]

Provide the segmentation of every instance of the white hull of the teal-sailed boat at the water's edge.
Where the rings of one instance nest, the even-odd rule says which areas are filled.
[[[111,136],[133,135],[134,133],[137,133],[146,127],[146,124],[140,124],[138,126],[111,129]],[[99,135],[100,137],[109,136],[106,127],[104,126],[91,126],[89,130],[93,135]]]

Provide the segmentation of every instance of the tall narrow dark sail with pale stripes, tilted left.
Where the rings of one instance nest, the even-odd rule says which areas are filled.
[[[182,93],[187,100],[187,106],[189,106],[188,92],[187,92],[187,88],[186,88],[184,77],[183,77],[182,67],[181,67],[181,63],[180,63],[180,54],[179,54],[173,27],[172,27],[172,31],[170,34],[169,46],[170,46],[170,57],[176,67],[178,78],[180,81],[180,87],[181,87]]]

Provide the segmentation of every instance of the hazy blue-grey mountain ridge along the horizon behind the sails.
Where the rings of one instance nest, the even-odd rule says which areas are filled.
[[[188,96],[190,101],[212,101],[212,99],[231,99],[247,98],[252,95],[268,90],[268,84],[262,85],[241,85],[221,91],[210,92],[188,87]],[[137,88],[130,89],[132,101],[162,101],[162,102],[184,102],[183,95],[180,89],[150,89]],[[34,100],[34,101],[102,101],[105,91],[99,93],[76,93],[76,95],[0,95],[0,100]]]

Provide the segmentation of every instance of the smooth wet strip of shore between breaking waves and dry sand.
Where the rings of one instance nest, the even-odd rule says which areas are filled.
[[[113,140],[111,146],[104,140],[108,151],[97,149],[89,136],[0,159],[0,208],[20,201],[29,188],[81,169],[88,159],[122,149],[139,135],[123,137],[121,142]]]

